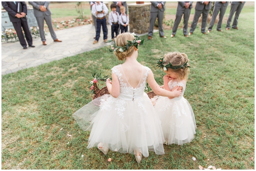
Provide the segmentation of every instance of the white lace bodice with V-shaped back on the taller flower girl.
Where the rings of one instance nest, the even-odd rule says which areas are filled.
[[[129,96],[133,96],[133,95],[138,95],[144,92],[145,86],[146,86],[146,79],[148,77],[149,71],[151,71],[148,67],[142,66],[143,70],[142,70],[142,75],[140,78],[140,82],[139,84],[133,88],[128,80],[125,77],[125,73],[123,72],[122,66],[121,65],[117,65],[115,67],[113,67],[112,73],[116,74],[119,83],[120,83],[120,94],[124,94],[124,95],[129,95]]]

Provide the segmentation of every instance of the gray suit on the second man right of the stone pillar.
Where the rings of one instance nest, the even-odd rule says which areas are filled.
[[[185,8],[184,3],[185,2],[178,2],[176,18],[175,18],[175,21],[174,21],[174,26],[172,28],[172,34],[173,35],[176,34],[177,28],[180,24],[181,17],[182,17],[183,14],[184,14],[184,17],[183,17],[184,18],[183,34],[187,35],[187,24],[188,24],[188,21],[189,21],[189,15],[190,15],[190,11],[191,11],[193,2],[190,2],[190,6],[187,9]]]

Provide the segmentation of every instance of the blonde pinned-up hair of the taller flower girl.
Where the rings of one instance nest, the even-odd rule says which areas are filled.
[[[126,32],[126,33],[119,34],[116,37],[116,45],[120,46],[120,47],[124,47],[124,46],[126,46],[128,40],[129,41],[134,40],[134,36],[131,33]],[[118,49],[118,50],[114,51],[114,54],[116,55],[118,60],[123,61],[126,57],[131,56],[133,54],[134,50],[135,50],[135,46],[130,46],[128,48],[128,50],[121,52]]]

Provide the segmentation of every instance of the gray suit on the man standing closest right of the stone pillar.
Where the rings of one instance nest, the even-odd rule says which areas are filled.
[[[162,3],[162,8],[159,9],[157,7],[158,3]],[[148,36],[153,35],[153,29],[155,25],[155,20],[158,20],[158,29],[159,29],[159,36],[162,37],[163,33],[163,12],[165,11],[165,2],[151,2],[150,8],[150,19],[149,19],[149,29],[148,29]]]

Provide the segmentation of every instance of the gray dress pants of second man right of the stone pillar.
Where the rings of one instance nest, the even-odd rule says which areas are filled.
[[[175,21],[174,21],[174,26],[172,28],[172,34],[173,35],[175,35],[176,32],[177,32],[177,29],[178,29],[178,26],[180,24],[180,21],[181,21],[181,18],[182,18],[183,14],[184,14],[184,17],[183,17],[183,19],[184,19],[183,34],[187,35],[187,26],[188,26],[187,23],[189,21],[190,11],[191,11],[191,9],[187,8],[187,9],[176,12],[176,18],[175,18]]]

